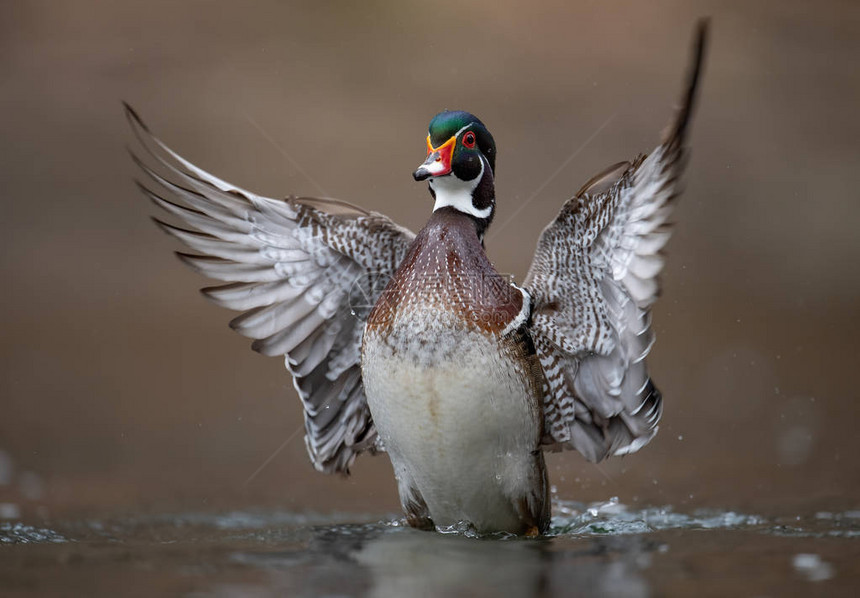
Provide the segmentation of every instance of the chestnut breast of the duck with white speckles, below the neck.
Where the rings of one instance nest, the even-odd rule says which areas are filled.
[[[523,294],[487,258],[472,217],[433,212],[367,320],[368,332],[428,329],[501,335],[521,313]]]

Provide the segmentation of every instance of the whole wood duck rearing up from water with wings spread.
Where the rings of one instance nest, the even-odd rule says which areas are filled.
[[[662,143],[563,205],[520,286],[484,251],[496,146],[468,112],[430,122],[414,177],[435,203],[415,235],[341,201],[222,181],[126,106],[166,176],[135,160],[179,201],[141,188],[194,230],[156,222],[198,252],[179,253],[186,264],[227,283],[202,292],[243,312],[230,326],[285,356],[319,471],[347,474],[358,454],[386,451],[410,525],[536,535],[550,522],[544,450],[598,461],[648,443],[662,412],[644,361],[650,307],[706,29]]]

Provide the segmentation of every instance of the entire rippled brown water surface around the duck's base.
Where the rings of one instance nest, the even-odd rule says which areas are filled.
[[[850,595],[860,512],[769,518],[557,501],[544,538],[393,515],[184,512],[0,524],[4,595]]]

